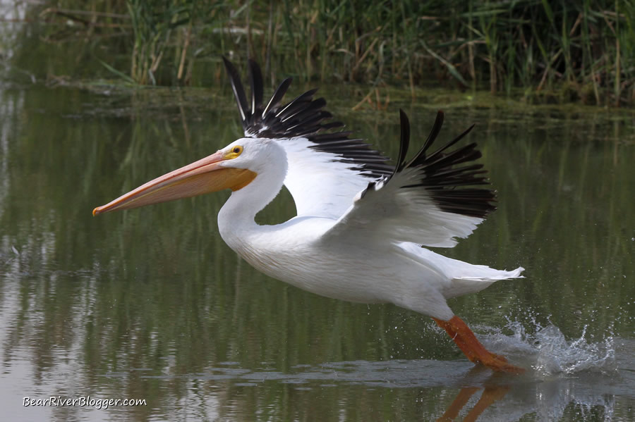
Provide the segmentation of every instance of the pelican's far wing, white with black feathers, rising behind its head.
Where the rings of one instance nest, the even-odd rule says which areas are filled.
[[[277,139],[284,147],[289,170],[284,185],[296,203],[298,216],[339,218],[353,204],[355,194],[368,182],[386,177],[393,167],[388,158],[362,139],[351,139],[350,132],[332,131],[340,122],[326,111],[323,98],[313,99],[317,89],[281,104],[291,78],[263,102],[262,73],[249,61],[251,96],[245,94],[240,75],[223,57],[231,80],[246,137]]]

